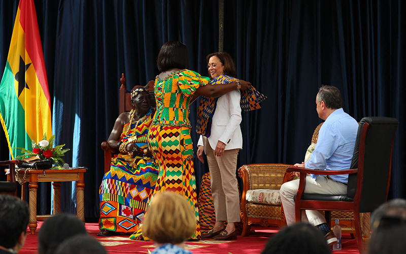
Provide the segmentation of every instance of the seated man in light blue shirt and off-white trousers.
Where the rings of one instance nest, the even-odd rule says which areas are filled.
[[[294,167],[317,170],[346,170],[350,169],[357,137],[358,123],[342,109],[340,90],[334,86],[320,87],[316,96],[316,110],[324,121],[319,131],[316,147],[306,163],[295,164]],[[299,176],[299,173],[295,173]],[[340,195],[347,193],[347,175],[306,177],[305,193]],[[295,223],[294,196],[297,193],[299,179],[282,184],[280,194],[286,223]],[[326,224],[324,215],[316,210],[306,210],[302,213],[302,220],[308,220],[317,226],[326,236],[327,243],[337,241],[333,232]]]

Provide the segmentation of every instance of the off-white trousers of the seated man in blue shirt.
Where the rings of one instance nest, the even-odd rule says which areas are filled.
[[[294,196],[296,195],[298,188],[299,179],[285,182],[281,186],[281,201],[288,226],[295,223]],[[304,193],[330,195],[347,194],[347,185],[342,182],[334,181],[326,176],[319,176],[316,178],[316,180],[314,180],[311,176],[307,176]],[[301,219],[303,221],[309,221],[309,223],[313,226],[326,222],[324,215],[316,210],[306,210],[306,213],[302,212]]]

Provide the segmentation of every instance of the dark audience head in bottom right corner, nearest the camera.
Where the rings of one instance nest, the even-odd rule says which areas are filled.
[[[406,253],[406,220],[399,216],[382,216],[371,233],[368,254]]]

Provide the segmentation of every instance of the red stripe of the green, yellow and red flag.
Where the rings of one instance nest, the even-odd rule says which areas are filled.
[[[49,96],[48,78],[45,72],[44,53],[42,51],[40,31],[37,22],[37,13],[33,0],[20,0],[18,6],[20,9],[20,24],[25,32],[25,50],[31,58],[37,74],[38,81],[41,84],[48,106],[51,108],[51,99]]]

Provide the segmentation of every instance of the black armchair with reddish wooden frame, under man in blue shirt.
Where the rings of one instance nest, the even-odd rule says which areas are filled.
[[[351,169],[321,171],[290,167],[286,172],[300,172],[299,189],[295,197],[296,221],[302,210],[323,210],[327,224],[330,211],[352,211],[359,252],[364,253],[361,235],[360,212],[372,212],[385,203],[388,197],[392,166],[393,139],[399,122],[390,117],[364,117],[358,128]],[[349,174],[347,195],[304,193],[306,174]],[[329,225],[331,226],[331,225]]]

